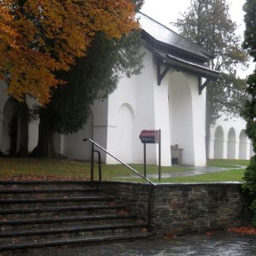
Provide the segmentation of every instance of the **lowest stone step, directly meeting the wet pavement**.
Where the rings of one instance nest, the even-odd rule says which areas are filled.
[[[86,244],[92,242],[106,242],[106,241],[120,241],[120,240],[133,240],[142,239],[148,237],[148,232],[133,232],[125,234],[114,234],[114,235],[98,235],[98,236],[73,236],[69,238],[58,238],[58,239],[43,239],[40,241],[16,241],[15,243],[2,244],[0,245],[0,252],[9,252],[9,255],[15,255],[17,249],[29,249],[36,247],[53,247],[61,245],[75,245],[75,244]],[[26,251],[27,252],[27,251]]]

